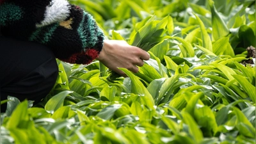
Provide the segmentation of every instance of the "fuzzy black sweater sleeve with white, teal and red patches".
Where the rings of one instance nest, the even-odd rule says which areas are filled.
[[[56,58],[77,64],[97,58],[104,40],[92,15],[67,0],[0,0],[0,30],[47,45]]]

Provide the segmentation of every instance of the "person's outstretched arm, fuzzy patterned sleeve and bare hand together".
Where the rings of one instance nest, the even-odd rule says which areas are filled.
[[[125,42],[104,41],[92,15],[67,0],[26,1],[8,0],[0,5],[4,36],[47,45],[56,58],[68,63],[88,64],[99,57],[122,76],[116,67],[138,72],[136,65],[142,66],[142,60],[149,58],[147,52]]]

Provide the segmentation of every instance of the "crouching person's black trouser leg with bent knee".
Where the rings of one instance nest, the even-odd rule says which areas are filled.
[[[0,96],[40,102],[52,89],[58,65],[51,49],[35,42],[0,36]],[[6,104],[1,105],[5,112]]]

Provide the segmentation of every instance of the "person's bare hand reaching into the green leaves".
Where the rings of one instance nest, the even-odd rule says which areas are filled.
[[[143,60],[149,60],[148,52],[127,44],[124,40],[104,40],[102,51],[99,54],[99,60],[110,70],[115,71],[121,76],[126,77],[118,67],[127,68],[131,72],[138,72],[142,67]]]

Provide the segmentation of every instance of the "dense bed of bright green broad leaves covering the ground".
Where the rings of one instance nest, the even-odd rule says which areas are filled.
[[[255,1],[70,2],[150,60],[129,77],[57,61],[40,104],[8,98],[1,143],[256,143]]]

